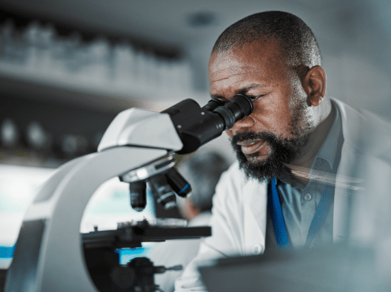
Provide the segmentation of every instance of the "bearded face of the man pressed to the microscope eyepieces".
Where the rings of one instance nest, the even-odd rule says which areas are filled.
[[[232,99],[245,94],[254,112],[227,131],[248,177],[281,176],[299,156],[312,128],[306,93],[286,63],[277,40],[264,38],[227,53],[213,53],[210,94]]]

